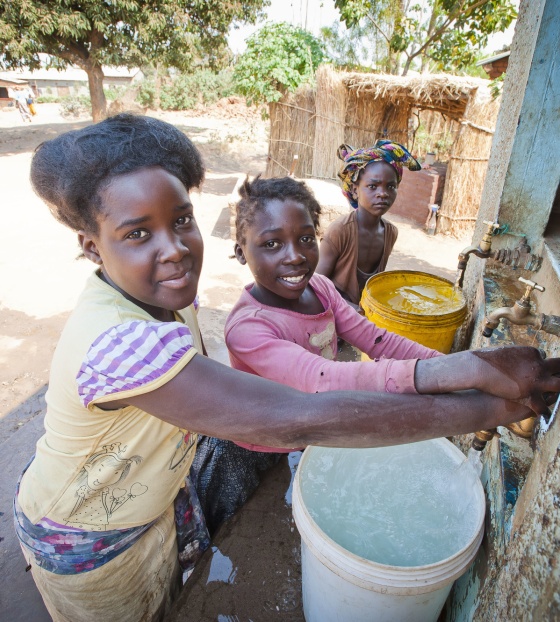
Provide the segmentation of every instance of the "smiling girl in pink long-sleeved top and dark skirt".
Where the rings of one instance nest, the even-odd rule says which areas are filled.
[[[332,281],[314,274],[321,208],[307,186],[290,177],[257,178],[245,181],[240,194],[235,255],[255,281],[226,321],[231,366],[307,393],[416,393],[417,361],[439,352],[378,328]],[[372,360],[337,361],[338,337]],[[245,503],[260,473],[290,451],[199,440],[192,474],[211,532]]]

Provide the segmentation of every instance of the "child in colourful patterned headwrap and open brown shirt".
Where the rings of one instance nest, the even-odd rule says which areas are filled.
[[[343,161],[338,173],[342,194],[354,209],[327,229],[317,272],[358,309],[367,280],[385,270],[397,240],[397,228],[383,216],[397,198],[403,167],[418,171],[421,166],[403,145],[390,140],[367,149],[341,145],[337,155]]]

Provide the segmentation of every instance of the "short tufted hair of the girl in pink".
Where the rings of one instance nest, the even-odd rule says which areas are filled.
[[[245,232],[253,224],[255,214],[264,211],[266,203],[274,199],[291,199],[301,203],[311,216],[315,233],[319,230],[321,206],[303,181],[297,181],[293,177],[261,179],[260,175],[249,181],[247,177],[239,188],[239,194],[241,199],[235,206],[235,237],[238,244],[245,244]]]

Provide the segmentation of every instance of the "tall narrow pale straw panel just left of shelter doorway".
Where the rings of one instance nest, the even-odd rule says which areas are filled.
[[[321,65],[316,73],[315,152],[313,177],[336,179],[340,160],[338,147],[344,142],[347,92],[340,74],[329,65]]]

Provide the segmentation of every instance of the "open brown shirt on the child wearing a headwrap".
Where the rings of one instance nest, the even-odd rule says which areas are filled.
[[[356,210],[344,214],[331,223],[322,243],[328,244],[338,256],[331,280],[334,286],[354,304],[360,303],[362,290],[358,283],[358,221]],[[387,220],[381,219],[385,227],[383,255],[372,274],[383,272],[389,255],[397,241],[398,229]]]

